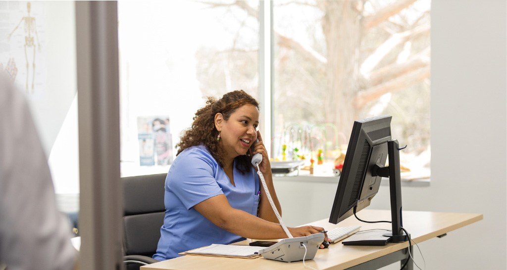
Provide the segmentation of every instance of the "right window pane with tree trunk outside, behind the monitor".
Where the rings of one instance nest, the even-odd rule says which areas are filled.
[[[429,177],[430,1],[402,3],[274,2],[273,158],[331,170],[354,120],[389,114],[402,165]]]

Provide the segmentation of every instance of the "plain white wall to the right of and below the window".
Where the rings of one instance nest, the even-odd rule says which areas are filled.
[[[426,269],[507,267],[506,25],[504,0],[431,5],[431,184],[404,186],[403,207],[482,213],[484,219],[421,243]],[[277,178],[275,185],[289,225],[329,217],[336,185],[313,182],[308,188],[290,178]],[[305,206],[305,197],[322,206],[313,201]],[[389,209],[387,186],[381,186],[369,208]],[[423,267],[415,250],[416,263]]]

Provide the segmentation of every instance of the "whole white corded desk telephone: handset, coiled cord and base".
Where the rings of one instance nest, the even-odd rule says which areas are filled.
[[[257,143],[258,141],[259,139],[257,139],[255,143]],[[253,145],[255,145],[255,143],[252,144],[252,150]],[[280,225],[282,226],[285,234],[287,234],[288,238],[282,239],[278,243],[268,248],[259,250],[259,254],[261,254],[266,259],[286,262],[299,260],[304,261],[305,259],[308,260],[313,259],[315,257],[315,254],[317,253],[320,244],[324,241],[324,234],[314,234],[310,236],[296,238],[294,238],[291,235],[291,232],[289,232],[287,226],[283,222],[282,217],[280,216],[280,213],[278,213],[275,203],[273,202],[273,199],[269,194],[269,189],[268,186],[266,185],[266,180],[264,179],[264,175],[262,174],[261,169],[259,168],[261,162],[262,162],[261,153],[256,153],[255,155],[253,155],[251,163],[254,167],[257,167],[257,174],[259,175],[259,178],[261,178],[262,186],[264,187],[264,191],[266,192],[268,201],[271,204],[271,208],[273,208],[276,218],[278,218],[278,221],[280,222]],[[292,248],[291,245],[293,246]]]

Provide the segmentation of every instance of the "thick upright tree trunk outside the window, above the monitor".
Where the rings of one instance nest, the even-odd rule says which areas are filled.
[[[357,82],[360,76],[358,63],[363,27],[357,6],[362,6],[362,3],[322,1],[318,4],[325,13],[322,17],[322,29],[328,50],[328,81],[326,89],[323,90],[326,93],[324,95],[326,118],[322,121],[335,124],[348,139],[352,123],[358,117],[353,100],[360,88]],[[347,143],[348,141],[339,142],[340,145]]]

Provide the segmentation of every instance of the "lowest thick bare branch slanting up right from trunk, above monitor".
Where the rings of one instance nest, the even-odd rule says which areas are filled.
[[[378,99],[384,94],[400,91],[407,86],[429,78],[429,74],[429,66],[426,66],[399,78],[360,91],[354,98],[354,107],[356,109],[361,109],[369,102]]]

